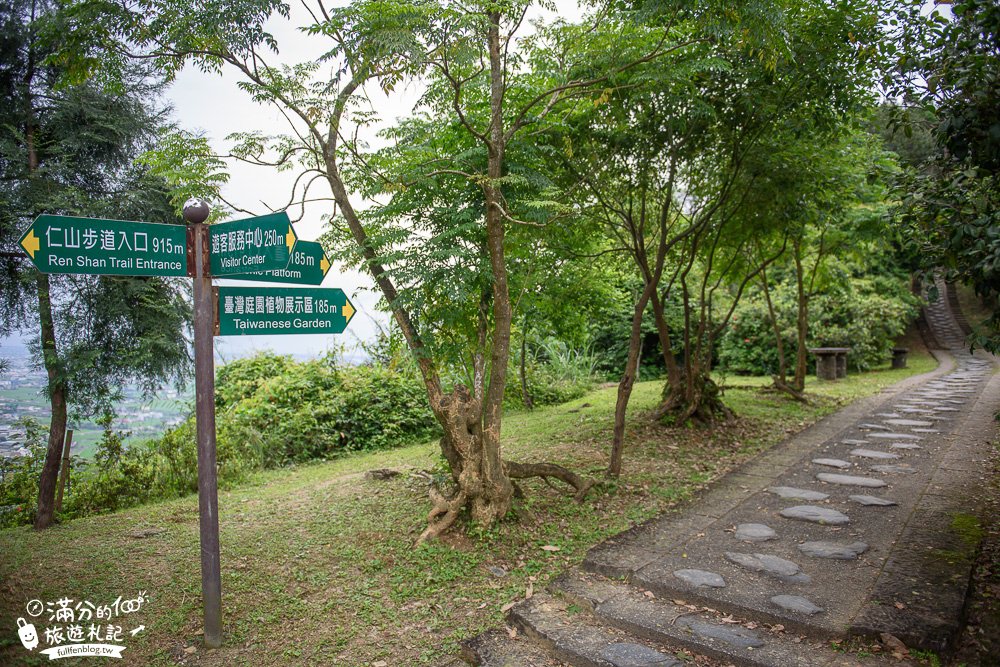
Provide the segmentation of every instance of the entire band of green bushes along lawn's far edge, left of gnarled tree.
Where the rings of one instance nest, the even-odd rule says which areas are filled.
[[[437,432],[412,364],[342,366],[332,356],[296,362],[264,353],[220,368],[216,398],[222,488],[256,470],[409,444]],[[104,428],[97,454],[74,460],[62,518],[197,492],[193,416],[160,438],[130,444],[128,433],[114,429],[113,415],[97,421]],[[46,433],[32,420],[21,425],[29,455],[0,458],[0,527],[34,520]]]

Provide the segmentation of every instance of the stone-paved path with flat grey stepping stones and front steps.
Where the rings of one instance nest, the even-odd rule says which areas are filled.
[[[994,360],[963,351],[946,287],[925,309],[941,365],[728,475],[680,514],[590,551],[511,609],[473,664],[646,667],[678,648],[721,664],[900,664],[831,650],[889,633],[947,650],[977,547],[971,500],[1000,406]]]

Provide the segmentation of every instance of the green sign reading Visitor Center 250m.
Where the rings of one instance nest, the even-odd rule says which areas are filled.
[[[283,269],[296,240],[284,211],[220,222],[208,229],[213,276]]]

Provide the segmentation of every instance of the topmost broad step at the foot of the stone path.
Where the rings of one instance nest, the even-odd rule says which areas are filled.
[[[848,665],[904,665],[894,658],[864,659],[838,652],[830,642],[790,632],[780,624],[725,614],[688,600],[656,597],[650,591],[582,570],[570,570],[552,589],[563,605],[586,609],[597,624],[623,630],[653,645],[687,649],[721,664],[754,667],[826,667]],[[521,612],[521,623],[542,627],[542,612]],[[538,632],[538,630],[536,630]],[[663,650],[669,651],[669,648]]]

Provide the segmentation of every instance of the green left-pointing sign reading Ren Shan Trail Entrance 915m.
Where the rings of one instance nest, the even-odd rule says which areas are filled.
[[[40,215],[20,244],[42,273],[187,275],[183,225]]]

